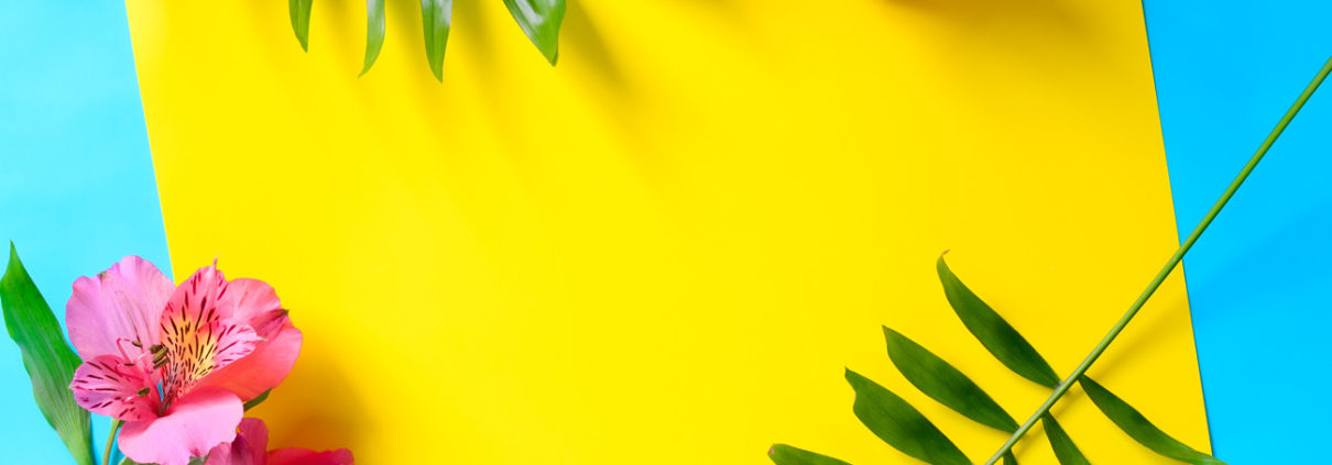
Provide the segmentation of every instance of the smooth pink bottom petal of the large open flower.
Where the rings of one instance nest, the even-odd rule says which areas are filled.
[[[218,444],[236,438],[241,400],[226,389],[193,389],[147,421],[131,421],[120,429],[120,450],[140,464],[188,465]]]

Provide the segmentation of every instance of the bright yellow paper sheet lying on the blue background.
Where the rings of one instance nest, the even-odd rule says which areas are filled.
[[[253,411],[362,464],[911,460],[843,367],[970,457],[1007,434],[915,391],[888,324],[1019,420],[1048,393],[956,320],[950,263],[1060,373],[1176,246],[1136,3],[571,0],[549,66],[458,1],[444,82],[418,7],[129,0],[177,279],[268,280],[305,331]],[[1207,450],[1183,280],[1091,371]],[[1080,391],[1095,462],[1168,464]],[[1039,429],[1039,428],[1038,428]],[[1023,464],[1052,464],[1039,430]]]

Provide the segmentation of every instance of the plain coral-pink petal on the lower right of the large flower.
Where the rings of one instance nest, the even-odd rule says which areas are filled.
[[[253,352],[208,375],[198,385],[222,387],[244,400],[254,399],[286,379],[301,355],[302,339],[301,331],[288,322],[273,337],[256,344]]]

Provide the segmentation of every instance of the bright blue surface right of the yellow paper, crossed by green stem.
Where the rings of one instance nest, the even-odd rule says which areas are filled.
[[[1180,236],[1332,54],[1332,1],[1147,0]],[[1320,462],[1332,397],[1332,82],[1184,259],[1212,445]]]

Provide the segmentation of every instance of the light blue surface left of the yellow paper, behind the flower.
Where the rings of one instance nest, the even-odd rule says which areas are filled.
[[[0,240],[15,242],[61,320],[75,278],[124,255],[170,272],[124,8],[19,0],[0,8]],[[72,462],[3,335],[0,412],[0,462]],[[99,454],[107,421],[93,418]]]

